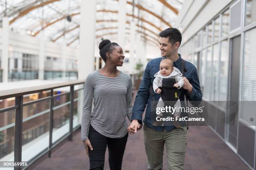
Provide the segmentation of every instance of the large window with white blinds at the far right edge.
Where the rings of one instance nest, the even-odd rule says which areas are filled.
[[[256,101],[256,29],[245,33],[242,75],[242,101],[241,118],[255,125],[255,106],[249,101]],[[253,121],[250,119],[254,118]]]

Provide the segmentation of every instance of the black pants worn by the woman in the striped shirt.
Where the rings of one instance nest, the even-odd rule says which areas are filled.
[[[108,146],[108,162],[110,170],[121,170],[123,154],[128,133],[123,138],[108,138],[98,133],[90,125],[88,138],[93,150],[89,148],[90,170],[103,170],[105,152]]]

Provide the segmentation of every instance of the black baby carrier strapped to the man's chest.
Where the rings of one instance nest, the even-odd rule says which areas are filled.
[[[184,76],[184,73],[187,71],[185,68],[185,60],[181,59],[181,73]],[[173,87],[173,85],[177,83],[174,78],[163,78],[162,79],[162,87],[159,87],[162,92],[161,92],[161,98],[163,103],[160,103],[162,107],[181,107],[181,101],[179,100],[179,97],[184,94],[184,89],[177,89],[176,87]],[[156,93],[153,90],[153,87],[151,85],[149,89],[149,93],[151,95],[151,125],[153,126],[164,126],[164,125],[174,125],[176,127],[178,126],[184,126],[186,122],[177,122],[177,121],[159,121],[156,119],[156,117],[159,117],[158,114],[156,114],[156,106],[159,106],[160,101],[157,101],[155,98]],[[187,97],[185,96],[185,99],[187,100]],[[177,112],[175,113],[177,115]],[[179,113],[180,114],[180,113]],[[161,114],[161,117],[167,118],[167,117],[173,117],[174,114],[166,113],[163,112]],[[184,113],[181,115],[182,117],[184,116]],[[187,116],[187,114],[186,114]],[[175,120],[175,117],[174,117]]]

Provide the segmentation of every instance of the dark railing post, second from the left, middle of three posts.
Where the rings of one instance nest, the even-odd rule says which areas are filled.
[[[51,147],[52,147],[52,129],[53,129],[53,106],[54,106],[54,97],[53,90],[51,90],[51,99],[50,99],[50,115],[49,115],[49,153],[48,157],[51,158]]]

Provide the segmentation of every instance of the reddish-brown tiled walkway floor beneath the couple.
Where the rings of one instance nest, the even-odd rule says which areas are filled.
[[[166,153],[165,153],[166,155]],[[167,160],[164,155],[164,170]],[[80,130],[73,142],[65,141],[52,152],[34,163],[30,170],[87,170],[89,160],[80,141]],[[105,169],[109,170],[108,153]],[[123,170],[146,170],[147,157],[143,143],[143,130],[130,135],[123,158]],[[233,151],[207,126],[190,126],[187,133],[185,170],[249,170]]]

